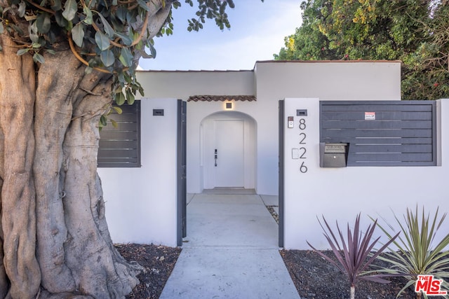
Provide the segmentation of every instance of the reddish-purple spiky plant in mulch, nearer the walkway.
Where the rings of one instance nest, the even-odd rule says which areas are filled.
[[[335,233],[333,232],[332,228],[330,228],[330,225],[328,224],[324,216],[323,221],[326,227],[323,226],[321,221],[318,219],[321,228],[323,228],[323,235],[328,240],[330,248],[332,249],[332,252],[337,261],[333,260],[329,256],[326,256],[326,254],[322,253],[314,246],[311,246],[309,242],[307,242],[307,244],[309,244],[311,249],[316,251],[316,253],[319,253],[320,256],[322,256],[323,258],[328,260],[328,262],[332,263],[342,272],[347,274],[349,284],[351,284],[351,299],[355,298],[356,284],[359,279],[375,281],[381,284],[388,284],[390,282],[386,279],[382,279],[381,277],[376,276],[375,274],[366,274],[364,273],[364,271],[369,265],[371,265],[371,263],[373,263],[375,258],[377,258],[377,256],[379,256],[379,254],[382,253],[382,251],[386,249],[387,246],[391,244],[391,242],[394,241],[399,233],[396,236],[392,237],[389,242],[384,244],[379,250],[373,251],[375,244],[380,239],[380,237],[377,237],[377,239],[375,239],[374,241],[371,240],[373,238],[373,233],[376,228],[377,221],[374,221],[374,223],[368,225],[366,233],[363,235],[363,232],[360,230],[360,214],[358,214],[356,217],[356,222],[354,223],[354,234],[352,233],[351,228],[349,228],[349,223],[347,224],[347,239],[344,239],[342,230],[340,230],[337,221],[335,221],[341,245],[337,237],[335,237]]]

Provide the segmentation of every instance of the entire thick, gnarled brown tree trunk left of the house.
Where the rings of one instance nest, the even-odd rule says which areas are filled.
[[[112,244],[96,161],[112,77],[0,43],[0,298],[124,298],[138,267]]]

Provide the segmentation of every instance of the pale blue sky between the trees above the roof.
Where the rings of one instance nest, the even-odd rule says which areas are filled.
[[[220,30],[206,19],[199,32],[187,32],[195,10],[181,0],[173,9],[173,35],[154,39],[155,59],[141,59],[140,68],[152,70],[253,69],[257,60],[273,60],[284,37],[301,25],[302,0],[234,0],[228,9],[230,29]]]

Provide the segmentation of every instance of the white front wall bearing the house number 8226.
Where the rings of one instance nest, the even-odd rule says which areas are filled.
[[[370,219],[386,219],[394,224],[393,210],[400,218],[406,208],[425,207],[426,211],[440,208],[443,214],[449,210],[449,99],[438,100],[437,131],[439,164],[431,167],[319,167],[319,100],[286,99],[286,118],[295,116],[296,109],[307,109],[304,117],[307,129],[307,172],[299,170],[300,160],[292,159],[292,148],[297,148],[298,130],[286,128],[285,147],[285,247],[309,249],[306,240],[318,249],[328,249],[326,239],[316,219],[324,215],[326,220],[346,232],[347,223],[354,223],[361,213],[362,227]],[[441,118],[442,117],[442,118]],[[295,128],[300,118],[295,117]],[[286,125],[286,121],[284,122]],[[441,139],[443,137],[443,139]],[[447,231],[445,231],[447,233]],[[382,235],[377,230],[376,237]]]

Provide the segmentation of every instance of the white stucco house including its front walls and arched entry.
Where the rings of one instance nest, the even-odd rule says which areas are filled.
[[[140,71],[138,80],[145,97],[131,112],[133,152],[121,151],[132,161],[99,157],[114,242],[180,245],[180,197],[213,188],[279,195],[279,244],[293,249],[307,247],[305,239],[322,241],[319,226],[310,230],[318,214],[337,211],[347,222],[358,212],[402,213],[405,204],[430,198],[429,207],[449,208],[444,100],[432,112],[431,165],[323,167],[323,104],[400,101],[401,62],[263,61],[244,71]],[[364,113],[365,120],[376,117]],[[298,140],[304,136],[307,146]]]

